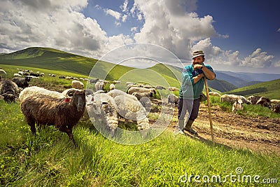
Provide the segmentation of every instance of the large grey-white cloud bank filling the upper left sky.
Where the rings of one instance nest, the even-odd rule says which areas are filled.
[[[100,57],[116,42],[127,43],[127,36],[110,38],[97,20],[85,18],[80,10],[86,6],[86,0],[1,1],[0,53],[42,46]]]

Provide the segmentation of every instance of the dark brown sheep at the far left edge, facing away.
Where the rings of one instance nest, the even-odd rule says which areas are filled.
[[[10,80],[0,81],[0,95],[6,102],[15,102],[15,97],[18,97],[18,85]]]

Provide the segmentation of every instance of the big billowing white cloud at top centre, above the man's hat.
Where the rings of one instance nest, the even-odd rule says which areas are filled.
[[[210,15],[200,18],[193,13],[196,1],[135,0],[135,14],[141,13],[145,23],[135,34],[137,42],[155,43],[171,50],[182,59],[190,58],[190,46],[201,39],[218,36]],[[137,12],[138,11],[138,12]]]

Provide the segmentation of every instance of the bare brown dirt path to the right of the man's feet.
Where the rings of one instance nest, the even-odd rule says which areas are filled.
[[[231,148],[248,148],[262,153],[280,155],[280,118],[246,117],[223,111],[218,106],[211,107],[214,126],[214,140]],[[174,118],[177,115],[175,111]],[[200,113],[193,124],[198,132],[197,139],[211,141],[209,113],[206,105],[201,104]],[[174,129],[176,123],[169,125]]]

